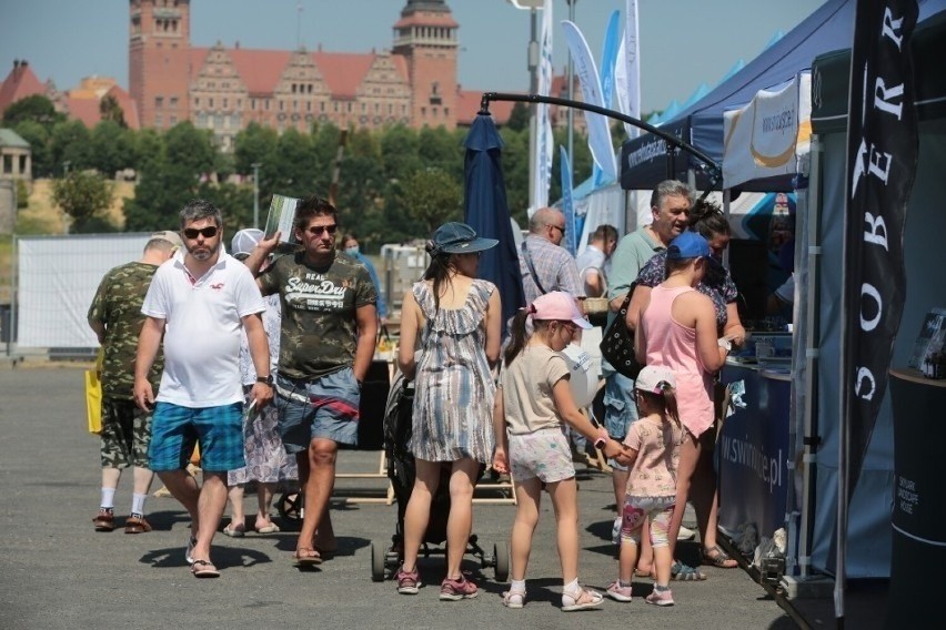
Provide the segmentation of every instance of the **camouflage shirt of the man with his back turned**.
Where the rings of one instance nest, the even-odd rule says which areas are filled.
[[[107,398],[133,399],[138,335],[144,324],[141,304],[157,271],[155,265],[139,262],[110,270],[99,284],[89,307],[89,322],[105,327],[102,396]],[[163,356],[159,352],[148,375],[155,394],[163,369]]]

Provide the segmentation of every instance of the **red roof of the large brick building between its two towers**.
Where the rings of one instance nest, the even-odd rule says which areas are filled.
[[[209,52],[209,48],[191,49],[191,81],[197,80]],[[233,61],[233,67],[251,96],[272,95],[293,54],[288,50],[249,48],[228,48],[225,52]],[[358,87],[379,57],[374,52],[322,51],[310,52],[309,55],[334,99],[354,99],[358,95]],[[392,59],[399,74],[406,81],[407,67],[403,58],[393,54]]]

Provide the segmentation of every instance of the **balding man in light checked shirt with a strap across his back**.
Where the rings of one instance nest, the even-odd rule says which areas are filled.
[[[575,258],[561,246],[566,230],[565,215],[553,207],[540,207],[529,220],[529,235],[519,255],[526,304],[551,291],[584,297]]]

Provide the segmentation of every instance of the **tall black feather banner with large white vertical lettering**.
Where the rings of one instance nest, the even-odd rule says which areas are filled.
[[[918,153],[910,54],[917,13],[916,0],[857,2],[847,123],[842,355],[847,500],[887,388],[906,299],[904,224]]]

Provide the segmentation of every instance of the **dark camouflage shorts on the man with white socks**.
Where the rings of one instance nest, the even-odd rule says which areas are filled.
[[[148,468],[151,413],[132,400],[102,400],[102,468]]]

